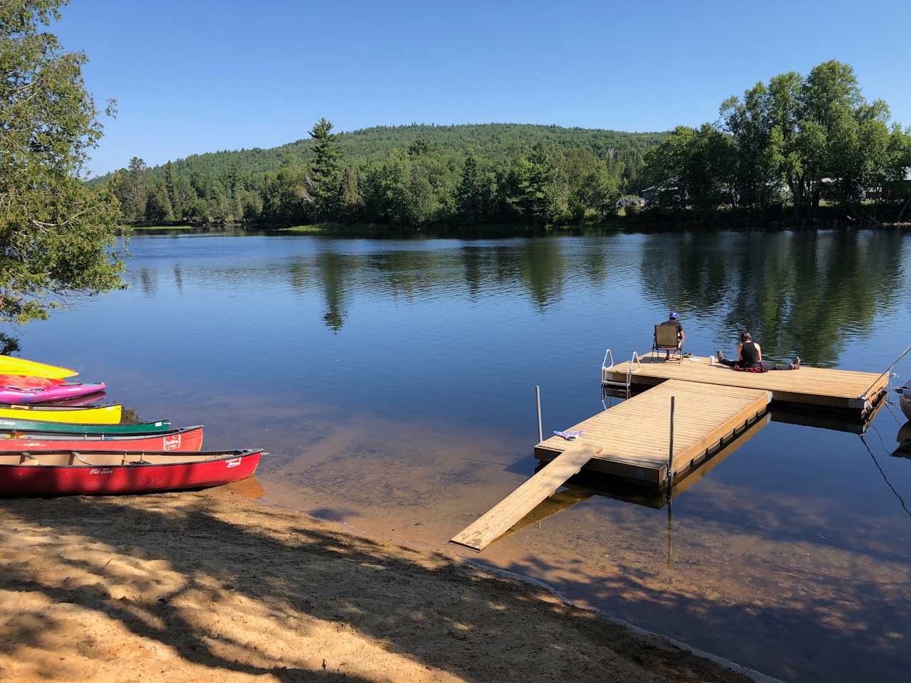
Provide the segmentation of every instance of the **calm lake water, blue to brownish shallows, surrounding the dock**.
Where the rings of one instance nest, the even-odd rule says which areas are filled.
[[[209,448],[265,447],[243,490],[266,502],[435,546],[534,471],[534,385],[547,432],[589,417],[605,348],[648,350],[670,308],[700,354],[747,327],[768,356],[880,372],[911,342],[901,232],[131,251],[128,291],[25,326],[23,354],[107,381],[141,419],[205,423]],[[672,510],[573,487],[479,559],[779,678],[905,681],[904,417],[885,406],[865,442],[791,422],[773,414]]]

